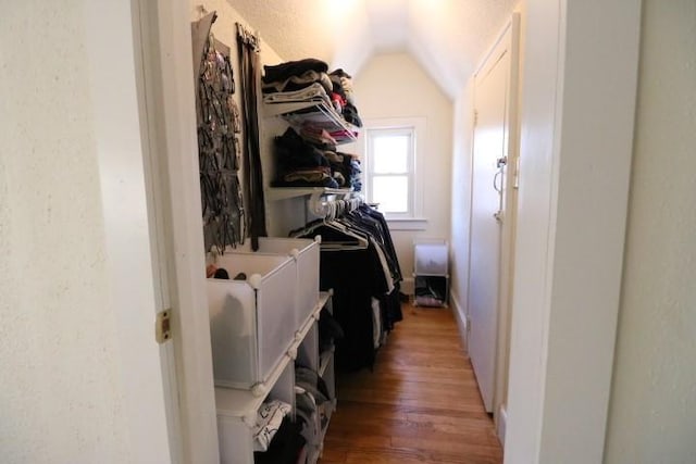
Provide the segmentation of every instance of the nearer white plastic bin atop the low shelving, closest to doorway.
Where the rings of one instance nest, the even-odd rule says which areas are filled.
[[[215,385],[249,389],[265,383],[299,328],[297,265],[290,256],[225,253],[217,266],[247,279],[207,280]]]

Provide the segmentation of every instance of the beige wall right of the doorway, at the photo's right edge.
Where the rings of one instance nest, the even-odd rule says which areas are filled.
[[[606,463],[696,462],[696,3],[643,2]]]

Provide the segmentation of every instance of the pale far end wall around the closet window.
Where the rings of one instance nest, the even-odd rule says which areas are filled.
[[[350,73],[349,70],[346,70]],[[452,102],[407,53],[377,54],[353,76],[353,89],[363,120],[424,117],[425,140],[419,140],[423,172],[425,230],[396,230],[391,237],[403,275],[413,272],[413,240],[444,238],[450,234],[450,166]]]

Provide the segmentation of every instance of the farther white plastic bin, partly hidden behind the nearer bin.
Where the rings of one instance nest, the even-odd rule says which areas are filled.
[[[235,252],[249,252],[251,244],[247,241]],[[256,253],[291,256],[297,266],[295,322],[297,328],[307,321],[319,301],[319,256],[320,241],[308,238],[259,238],[259,250]],[[233,275],[231,274],[231,277]]]

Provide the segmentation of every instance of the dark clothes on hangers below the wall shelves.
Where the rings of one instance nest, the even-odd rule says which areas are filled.
[[[322,238],[320,288],[334,290],[334,317],[344,333],[336,341],[336,365],[344,371],[372,367],[375,344],[402,318],[401,269],[384,216],[361,204],[340,217],[310,223],[290,235]],[[375,300],[378,314],[373,310]]]

